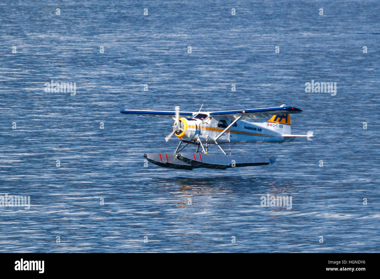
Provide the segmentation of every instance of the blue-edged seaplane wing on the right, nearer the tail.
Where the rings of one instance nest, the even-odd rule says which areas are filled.
[[[242,109],[210,112],[210,116],[222,116],[234,118],[242,116],[242,119],[259,119],[267,118],[277,114],[301,113],[302,110],[292,106],[282,105],[280,107],[265,107],[262,109]]]

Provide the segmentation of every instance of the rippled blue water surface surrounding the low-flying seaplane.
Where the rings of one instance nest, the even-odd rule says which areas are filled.
[[[378,252],[379,14],[377,1],[1,2],[0,191],[31,201],[0,208],[1,250]],[[52,79],[76,95],[45,93]],[[305,93],[311,80],[336,96]],[[291,104],[292,132],[314,141],[232,147],[271,166],[144,167],[176,148],[172,121],[119,111],[202,103]],[[262,207],[267,194],[291,210]]]

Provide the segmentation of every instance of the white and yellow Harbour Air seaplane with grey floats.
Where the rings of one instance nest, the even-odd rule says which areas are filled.
[[[202,109],[203,105],[201,106]],[[291,134],[290,115],[302,110],[283,104],[279,107],[202,112],[164,110],[121,110],[127,115],[171,117],[173,131],[166,136],[168,140],[175,135],[179,144],[173,154],[146,153],[147,161],[171,169],[192,170],[194,168],[229,169],[233,167],[262,166],[274,164],[276,158],[255,158],[231,154],[231,143],[283,143],[297,137],[312,141],[313,132],[306,135]],[[266,120],[259,122],[260,120]],[[221,145],[229,145],[227,154]],[[182,146],[183,145],[183,146]],[[187,146],[195,146],[194,152],[184,152]],[[209,153],[210,145],[216,145],[221,154]]]

